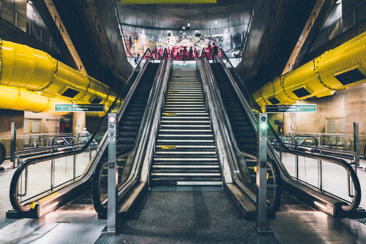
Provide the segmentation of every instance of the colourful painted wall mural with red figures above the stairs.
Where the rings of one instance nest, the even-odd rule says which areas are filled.
[[[173,35],[149,35],[136,32],[124,32],[127,56],[136,56],[137,53],[143,53],[149,48],[154,58],[160,59],[163,50],[167,48],[169,58],[174,59],[195,59],[200,55],[203,48],[206,54],[210,56],[212,44],[222,48],[227,56],[240,55],[243,43],[243,33],[227,33],[221,35],[201,36],[197,33],[195,36],[173,36]],[[180,55],[182,51],[183,55]]]

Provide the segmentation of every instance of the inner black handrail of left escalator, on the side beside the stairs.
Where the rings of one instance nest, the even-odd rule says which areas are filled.
[[[164,49],[164,55],[161,57],[161,61],[160,61],[161,65],[159,66],[159,69],[156,73],[156,78],[154,79],[153,88],[150,90],[149,98],[147,99],[147,103],[146,103],[147,105],[153,102],[153,101],[151,101],[153,99],[153,94],[157,92],[156,90],[154,92],[154,89],[157,87],[157,84],[159,84],[158,81],[160,81],[161,76],[163,75],[162,70],[164,69],[164,60],[167,60],[167,59],[168,59],[167,50]],[[157,82],[155,82],[155,81],[157,81]],[[138,134],[135,138],[134,147],[132,148],[131,151],[129,151],[129,152],[123,154],[123,155],[118,156],[118,158],[125,158],[126,156],[134,153],[137,150],[137,147],[138,147],[137,141],[141,140],[143,127],[146,126],[146,124],[144,122],[147,121],[147,116],[151,113],[151,111],[149,110],[149,106],[147,106],[147,105],[146,105],[146,108],[145,108],[145,111],[144,111],[144,114],[143,114],[143,118],[141,120],[141,125],[139,127]],[[93,180],[93,185],[92,185],[92,191],[94,193],[92,195],[93,205],[94,205],[95,210],[99,214],[105,214],[105,211],[106,211],[106,207],[102,206],[103,203],[100,200],[100,193],[99,193],[99,180],[100,180],[99,176],[101,174],[101,170],[103,170],[103,168],[104,168],[103,164],[105,164],[105,163],[106,162],[105,162],[105,159],[104,159],[104,161],[101,163],[101,166],[97,166],[95,177],[94,177],[94,180]],[[134,172],[136,172],[136,171],[134,170]],[[132,180],[133,180],[133,177],[128,177],[128,180],[126,182],[124,182],[121,186],[119,186],[119,188],[117,189],[118,200],[120,198],[122,198],[122,196],[120,196],[120,195],[121,195],[121,192],[123,191],[124,187],[126,185],[129,185]],[[104,200],[104,202],[107,202],[107,201],[108,201],[108,197]]]

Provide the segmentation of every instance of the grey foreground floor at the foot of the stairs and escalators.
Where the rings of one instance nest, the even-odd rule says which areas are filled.
[[[11,208],[8,191],[14,171],[0,173],[0,221]],[[360,180],[365,174],[358,170]],[[0,223],[0,243],[366,243],[363,223],[317,211],[277,212],[268,221],[274,235],[259,236],[253,229],[255,221],[243,218],[220,188],[174,189],[147,191],[134,212],[120,220],[121,228],[113,237],[101,236],[107,221],[97,219],[86,206],[78,211],[64,208],[39,219],[13,223],[8,219]]]

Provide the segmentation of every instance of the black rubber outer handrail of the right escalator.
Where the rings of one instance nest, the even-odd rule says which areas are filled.
[[[221,53],[225,56],[226,60],[228,63],[230,63],[231,67],[232,64],[230,62],[230,60],[227,58],[225,52],[220,48],[220,51]],[[243,81],[241,80],[241,78],[239,77],[238,73],[236,73],[236,70],[234,69],[234,72],[235,72],[235,75],[236,77],[238,78],[238,80],[240,81],[242,87],[244,88],[244,90],[247,92],[248,96],[250,97],[250,99],[253,100],[254,102],[254,106],[258,109],[259,106],[258,104],[255,102],[255,100],[253,99],[253,97],[250,95],[250,93],[248,92],[246,86],[244,85]],[[229,77],[230,79],[230,77]],[[235,81],[234,81],[235,83]],[[234,88],[235,89],[235,88]],[[236,90],[236,89],[235,89]],[[236,90],[236,93],[238,95],[238,91]],[[239,93],[240,94],[240,93]],[[258,111],[261,111],[260,108]],[[225,111],[225,114],[226,114],[226,111]],[[227,115],[226,115],[227,116]],[[278,142],[280,143],[280,145],[282,145],[282,148],[285,152],[288,152],[290,154],[294,154],[294,155],[299,155],[299,156],[304,156],[304,157],[308,157],[308,158],[313,158],[313,159],[317,159],[317,160],[324,160],[326,162],[330,162],[330,163],[333,163],[333,164],[337,164],[337,165],[340,165],[342,166],[344,169],[346,169],[348,175],[351,176],[352,178],[352,182],[354,183],[354,200],[351,202],[351,204],[349,204],[348,206],[342,206],[342,209],[345,210],[345,211],[354,211],[356,210],[356,208],[358,208],[359,206],[359,203],[361,202],[361,186],[359,184],[359,180],[358,180],[358,177],[354,171],[354,169],[352,168],[352,166],[347,163],[345,160],[343,159],[339,159],[339,158],[333,158],[333,157],[330,157],[330,156],[325,156],[325,155],[314,155],[314,154],[311,154],[311,153],[307,153],[307,152],[299,152],[299,151],[296,151],[292,148],[288,148],[284,145],[284,143],[280,140],[279,136],[277,135],[277,133],[275,132],[275,130],[273,129],[273,127],[270,125],[270,123],[268,122],[268,127],[270,128],[270,130],[272,130],[272,133],[275,135],[275,137],[277,138]],[[236,142],[236,141],[235,141]],[[270,144],[269,144],[270,145]],[[291,175],[288,175],[286,174],[288,178],[293,178],[291,177]],[[333,195],[334,196],[334,195]],[[340,197],[338,197],[340,198]],[[341,199],[341,198],[340,198]],[[344,199],[342,199],[344,200]],[[348,202],[348,201],[347,201]]]

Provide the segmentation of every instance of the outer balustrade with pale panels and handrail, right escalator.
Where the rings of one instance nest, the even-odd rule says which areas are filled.
[[[219,52],[222,53],[222,58],[219,61],[223,64],[226,64],[225,67],[232,68],[231,63],[223,50],[220,49]],[[236,73],[235,69],[232,70],[234,71],[234,74],[227,72],[227,75],[231,77],[232,85],[234,86],[238,96],[243,96],[242,94],[245,94],[245,97],[251,101],[252,106],[257,111],[261,111],[261,108],[257,103],[255,103],[251,93],[248,92],[246,86]],[[247,113],[248,116],[253,117],[250,120],[254,121],[255,117],[251,111],[251,106],[244,96],[242,97],[242,103],[243,109],[249,111],[249,113]],[[302,182],[302,184],[308,186],[309,189],[315,189],[318,192],[322,192],[324,195],[343,200],[344,202],[348,203],[347,206],[342,206],[344,211],[356,210],[361,201],[361,186],[359,185],[359,180],[355,173],[355,164],[349,164],[343,159],[338,159],[332,156],[314,155],[307,152],[296,151],[292,148],[289,148],[282,142],[269,123],[268,129],[268,134],[272,134],[272,136],[277,138],[277,142],[279,143],[282,151],[285,152],[287,156],[291,155],[290,158],[287,159],[285,159],[284,155],[282,155],[282,160],[278,160],[277,153],[273,150],[272,145],[268,143],[269,155],[273,157],[273,160],[277,160],[283,175],[286,175],[286,177],[290,179],[292,178],[295,180],[295,182]],[[302,168],[299,167],[299,157],[303,157],[304,166]],[[311,172],[311,175],[315,177],[307,177],[306,170],[309,171],[309,168],[313,171]],[[301,172],[301,174],[299,172]],[[335,175],[337,175],[337,178]],[[329,183],[329,181],[331,183]],[[337,187],[335,187],[335,185],[337,185]],[[344,190],[344,186],[346,186],[347,191],[342,192],[342,190]]]

